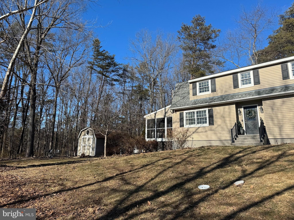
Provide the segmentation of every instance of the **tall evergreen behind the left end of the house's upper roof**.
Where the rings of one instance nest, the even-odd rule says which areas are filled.
[[[213,73],[211,50],[216,48],[213,44],[220,33],[220,29],[206,25],[205,17],[196,15],[191,21],[192,25],[182,24],[178,31],[178,40],[183,51],[185,68],[191,78],[202,77]]]

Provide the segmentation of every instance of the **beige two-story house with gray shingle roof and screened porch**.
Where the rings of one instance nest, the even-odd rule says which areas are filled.
[[[176,84],[172,104],[144,116],[146,140],[187,129],[187,147],[293,143],[293,107],[294,56]]]

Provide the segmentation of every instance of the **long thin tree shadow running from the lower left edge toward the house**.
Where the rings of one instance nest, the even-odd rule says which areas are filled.
[[[41,197],[46,197],[46,196],[50,196],[50,195],[53,195],[53,194],[58,194],[58,193],[62,193],[62,192],[69,192],[69,191],[73,191],[73,190],[76,190],[76,189],[80,189],[80,188],[83,188],[83,187],[87,187],[87,186],[91,186],[91,185],[95,185],[97,183],[102,183],[102,182],[107,182],[107,181],[110,181],[110,180],[113,180],[114,178],[117,178],[119,176],[122,176],[122,175],[125,175],[125,174],[128,174],[130,172],[139,172],[140,170],[143,170],[145,169],[146,167],[148,166],[152,166],[158,162],[162,162],[164,160],[169,160],[169,159],[172,159],[172,158],[175,158],[175,157],[178,157],[178,156],[181,156],[181,155],[185,155],[185,154],[188,154],[190,153],[191,151],[188,151],[188,152],[184,152],[184,153],[181,153],[179,155],[175,155],[175,156],[171,156],[171,157],[167,157],[167,158],[160,158],[152,163],[148,163],[148,164],[145,164],[141,167],[138,167],[136,169],[133,169],[133,170],[128,170],[128,171],[125,171],[125,172],[120,172],[116,175],[113,175],[113,176],[110,176],[110,177],[107,177],[103,180],[98,180],[98,181],[95,181],[95,182],[92,182],[92,183],[88,183],[88,184],[84,184],[84,185],[81,185],[81,186],[77,186],[77,187],[71,187],[71,188],[67,188],[67,189],[60,189],[60,190],[57,190],[57,191],[54,191],[54,192],[50,192],[50,193],[46,193],[46,194],[38,194],[38,195],[35,195],[35,196],[31,196],[31,197],[28,197],[26,199],[19,199],[19,200],[16,200],[14,202],[9,202],[9,203],[6,203],[6,204],[1,204],[0,205],[0,208],[3,208],[5,206],[9,206],[9,205],[14,205],[14,204],[21,204],[21,203],[24,203],[24,202],[28,202],[30,200],[36,200],[36,199],[39,199]],[[55,164],[54,164],[55,165]],[[27,168],[27,167],[26,167]]]

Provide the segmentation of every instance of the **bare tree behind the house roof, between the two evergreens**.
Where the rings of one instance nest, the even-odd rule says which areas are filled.
[[[263,48],[267,38],[265,31],[273,28],[276,14],[275,9],[261,4],[253,6],[250,11],[242,6],[235,20],[237,27],[226,32],[215,50],[216,57],[227,62],[227,66],[238,68],[257,64],[257,51]]]

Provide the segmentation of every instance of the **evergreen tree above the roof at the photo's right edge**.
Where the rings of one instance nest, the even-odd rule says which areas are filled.
[[[258,51],[260,54],[258,63],[294,55],[294,3],[279,18],[281,26],[268,37],[268,46]]]

